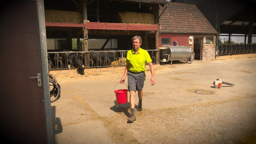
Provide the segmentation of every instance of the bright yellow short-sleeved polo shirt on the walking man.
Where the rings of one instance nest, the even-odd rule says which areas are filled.
[[[133,51],[133,48],[127,52],[126,63],[129,63],[128,70],[131,72],[145,71],[145,63],[151,62],[151,58],[148,52],[142,48],[137,53]]]

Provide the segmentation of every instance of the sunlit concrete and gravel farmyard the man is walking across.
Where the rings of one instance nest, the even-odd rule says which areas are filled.
[[[121,105],[114,92],[127,89],[117,84],[124,67],[85,69],[84,76],[50,71],[61,86],[61,98],[52,103],[55,143],[256,142],[256,54],[154,67],[156,84],[146,71],[143,111],[135,110],[132,124],[129,93]],[[216,89],[217,78],[235,85]]]

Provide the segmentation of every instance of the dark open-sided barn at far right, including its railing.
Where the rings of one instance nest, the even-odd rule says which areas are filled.
[[[255,0],[171,0],[171,2],[195,4],[209,20],[219,33],[216,57],[256,53]],[[235,39],[240,41],[233,41]]]

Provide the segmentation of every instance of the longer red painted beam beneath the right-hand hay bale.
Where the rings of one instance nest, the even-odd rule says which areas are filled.
[[[86,22],[86,29],[158,31],[158,25]]]

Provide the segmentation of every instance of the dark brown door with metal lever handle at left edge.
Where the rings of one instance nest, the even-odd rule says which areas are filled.
[[[20,0],[5,1],[0,10],[2,142],[49,143],[47,115],[51,112],[45,105],[49,103],[44,94],[48,77],[42,64],[40,33],[44,31],[39,30],[38,9],[37,1]]]

